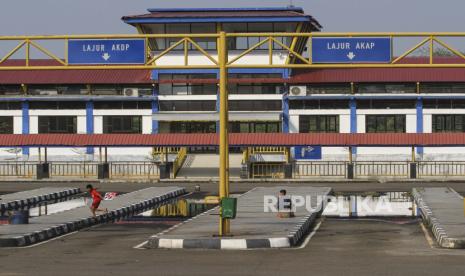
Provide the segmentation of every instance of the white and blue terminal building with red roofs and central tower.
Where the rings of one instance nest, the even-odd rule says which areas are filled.
[[[322,26],[301,8],[149,9],[125,16],[140,34],[310,33]],[[235,59],[262,38],[228,37]],[[306,38],[278,38],[274,64],[298,63],[282,45],[308,56]],[[150,38],[158,65],[180,65],[176,38]],[[194,39],[215,52],[216,38]],[[189,63],[209,59],[189,44]],[[265,43],[239,64],[267,64]],[[455,62],[453,57],[443,57]],[[406,58],[408,59],[408,58]],[[420,58],[418,58],[420,59]],[[34,60],[33,65],[55,61]],[[457,61],[460,62],[460,61]],[[0,66],[22,64],[6,60]],[[217,69],[0,71],[0,133],[219,132]],[[435,133],[465,131],[465,71],[461,68],[231,68],[229,130],[233,133]],[[313,149],[312,160],[347,160],[348,148]],[[415,149],[424,160],[454,160],[463,148]],[[38,148],[0,149],[6,160],[36,160]],[[49,149],[50,160],[96,160],[97,149]],[[214,152],[190,148],[190,153]],[[240,149],[236,149],[239,152]],[[356,160],[409,160],[411,148],[359,147]],[[148,160],[152,148],[112,148],[110,160]],[[292,151],[291,151],[292,152]],[[293,155],[293,154],[292,154]],[[294,156],[298,159],[298,156]]]

